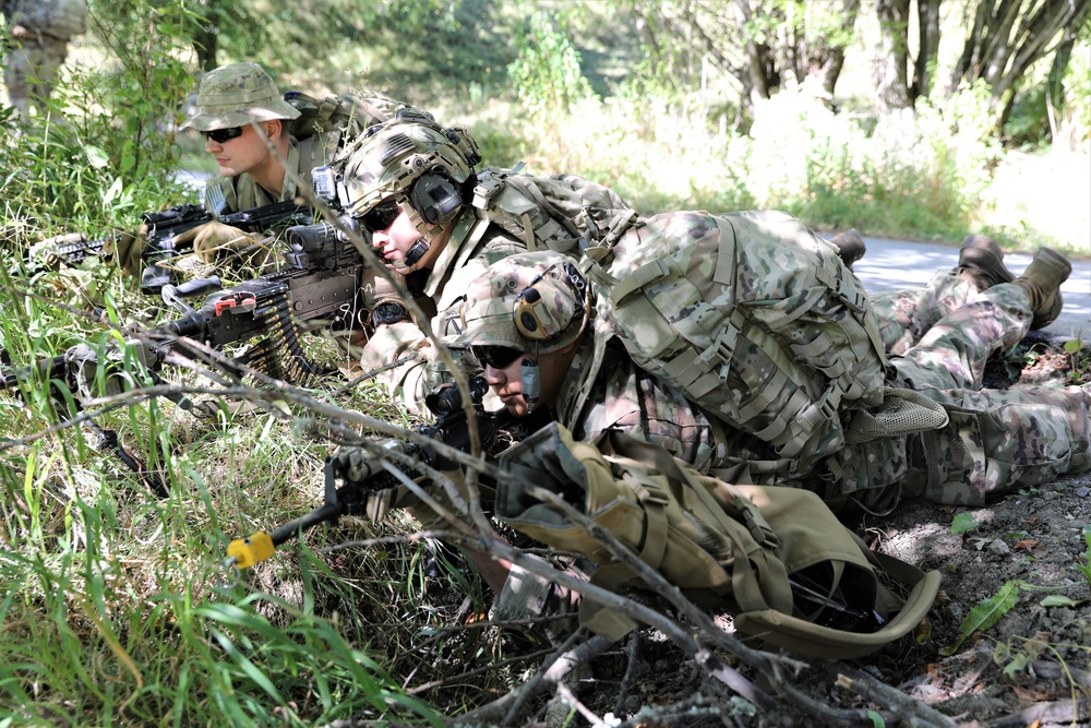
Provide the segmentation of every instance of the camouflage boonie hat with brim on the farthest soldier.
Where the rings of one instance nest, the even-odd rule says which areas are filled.
[[[299,109],[281,98],[261,65],[231,63],[204,74],[197,91],[197,112],[182,129],[214,131],[298,116]]]

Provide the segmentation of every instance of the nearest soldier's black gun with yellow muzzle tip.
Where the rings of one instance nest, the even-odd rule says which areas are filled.
[[[470,397],[477,420],[478,441],[485,452],[496,441],[496,434],[514,423],[506,409],[500,413],[485,411],[482,398],[489,391],[483,377],[470,380]],[[463,452],[470,451],[470,422],[463,410],[459,390],[454,384],[440,384],[424,399],[424,404],[436,415],[431,425],[422,425],[417,429],[419,434],[442,442]],[[245,538],[238,538],[227,547],[228,562],[238,569],[249,569],[260,561],[265,561],[276,551],[276,547],[298,537],[304,530],[329,523],[336,524],[345,515],[367,513],[369,496],[383,490],[396,488],[398,479],[384,467],[384,455],[400,453],[422,465],[436,470],[449,470],[456,465],[440,456],[427,445],[415,442],[382,438],[374,441],[374,446],[343,447],[327,455],[323,472],[325,486],[322,505],[299,518],[289,521],[272,533],[259,530]],[[419,473],[409,470],[410,478],[420,479]],[[338,486],[341,482],[344,485]]]

